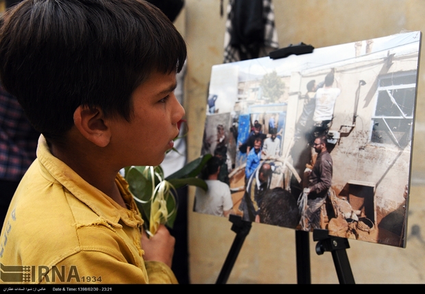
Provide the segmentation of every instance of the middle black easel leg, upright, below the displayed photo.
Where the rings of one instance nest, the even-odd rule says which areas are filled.
[[[311,284],[310,235],[308,231],[295,231],[295,249],[297,251],[297,282]]]

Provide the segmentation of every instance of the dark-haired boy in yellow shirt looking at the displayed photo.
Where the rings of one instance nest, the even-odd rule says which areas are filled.
[[[173,147],[185,58],[182,36],[144,1],[25,0],[5,12],[0,78],[42,136],[1,232],[2,282],[177,282],[173,237],[142,234],[118,172]],[[16,265],[29,274],[8,273]]]

